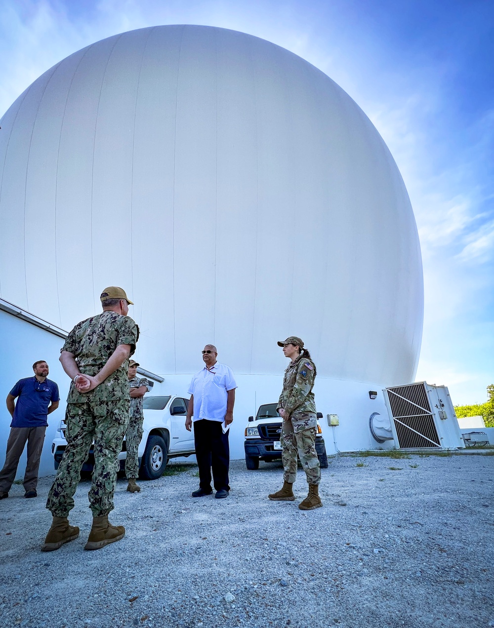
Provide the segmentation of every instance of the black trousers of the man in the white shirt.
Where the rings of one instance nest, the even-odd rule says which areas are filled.
[[[228,468],[230,443],[219,421],[200,419],[194,421],[195,458],[199,467],[199,487],[211,490],[211,468],[214,488],[230,490]]]

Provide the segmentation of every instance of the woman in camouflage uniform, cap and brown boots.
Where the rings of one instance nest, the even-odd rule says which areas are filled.
[[[319,497],[321,469],[316,453],[317,413],[314,404],[314,379],[316,365],[310,359],[304,343],[296,336],[290,336],[283,342],[285,357],[292,360],[288,364],[283,379],[283,391],[278,401],[277,411],[283,418],[281,443],[283,447],[282,461],[283,488],[268,495],[274,501],[294,501],[293,486],[297,477],[297,453],[304,467],[309,495],[299,504],[300,510],[314,510],[322,506]]]

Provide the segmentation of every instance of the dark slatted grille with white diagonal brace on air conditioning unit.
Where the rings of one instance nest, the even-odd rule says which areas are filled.
[[[400,449],[441,447],[424,383],[386,390]]]

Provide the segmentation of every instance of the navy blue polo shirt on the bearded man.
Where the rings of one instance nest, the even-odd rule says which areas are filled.
[[[18,397],[11,428],[37,428],[48,425],[48,406],[60,401],[58,386],[51,379],[40,382],[36,377],[19,379],[10,393]]]

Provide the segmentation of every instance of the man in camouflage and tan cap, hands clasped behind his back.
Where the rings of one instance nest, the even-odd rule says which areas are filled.
[[[84,549],[102,548],[125,534],[123,526],[108,522],[108,514],[113,510],[118,454],[129,423],[128,358],[134,353],[139,332],[127,316],[128,305],[133,303],[122,288],[106,288],[101,303],[102,313],[75,325],[60,354],[63,370],[72,379],[67,398],[67,448],[48,494],[53,523],[43,551],[58,549],[79,536],[79,528],[70,526],[67,517],[93,440],[89,490],[93,521]]]

